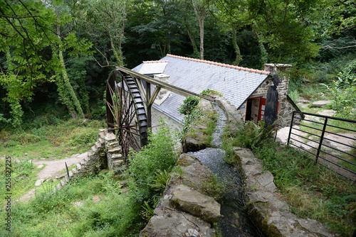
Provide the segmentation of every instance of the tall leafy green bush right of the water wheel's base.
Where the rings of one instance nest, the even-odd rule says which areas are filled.
[[[174,140],[167,126],[159,128],[157,134],[150,134],[149,143],[138,153],[130,154],[130,191],[138,202],[151,199],[155,188],[150,184],[157,180],[157,170],[168,170],[177,161]]]

